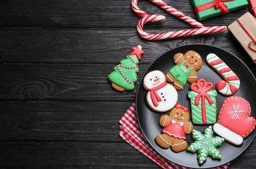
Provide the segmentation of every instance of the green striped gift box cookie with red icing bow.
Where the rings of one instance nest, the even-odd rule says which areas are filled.
[[[216,96],[214,85],[205,79],[198,79],[190,85],[188,92],[192,108],[192,122],[195,124],[210,124],[216,122]]]

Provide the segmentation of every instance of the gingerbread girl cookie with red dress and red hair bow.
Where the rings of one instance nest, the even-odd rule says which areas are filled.
[[[162,134],[156,136],[156,143],[175,152],[188,148],[185,134],[190,134],[193,130],[193,124],[188,121],[189,119],[188,108],[177,104],[171,109],[169,116],[166,114],[160,117],[159,123],[164,129]]]

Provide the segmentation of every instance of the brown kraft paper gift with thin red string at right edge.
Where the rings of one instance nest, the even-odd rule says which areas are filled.
[[[229,25],[229,30],[256,63],[256,18],[249,12]]]

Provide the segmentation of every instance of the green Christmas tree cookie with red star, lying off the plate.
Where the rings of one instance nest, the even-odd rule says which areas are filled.
[[[139,72],[139,60],[144,51],[141,45],[132,47],[130,55],[121,60],[120,64],[113,68],[113,72],[108,75],[108,79],[115,90],[122,92],[124,90],[134,90],[137,82],[137,72]]]

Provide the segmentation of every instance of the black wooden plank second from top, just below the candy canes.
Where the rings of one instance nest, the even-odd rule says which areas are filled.
[[[125,33],[123,33],[123,31]],[[142,45],[140,64],[150,64],[169,49],[186,44],[209,44],[251,59],[231,32],[173,40],[142,40],[134,29],[0,29],[0,63],[119,64],[132,46]],[[248,57],[244,57],[248,56]]]

